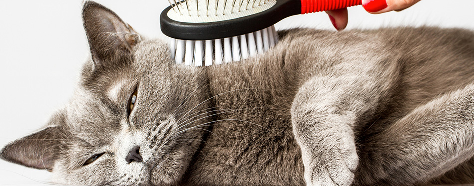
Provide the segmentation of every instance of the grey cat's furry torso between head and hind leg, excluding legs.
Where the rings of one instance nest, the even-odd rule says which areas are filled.
[[[199,173],[198,178],[205,178],[200,179],[204,183],[221,181],[223,185],[304,185],[302,175],[298,175],[304,168],[301,167],[301,152],[293,140],[290,113],[298,90],[312,77],[329,77],[335,81],[333,84],[314,83],[318,88],[336,86],[345,78],[352,79],[351,83],[341,83],[344,86],[340,92],[318,95],[325,98],[321,100],[324,102],[341,94],[345,98],[343,101],[330,104],[338,105],[338,112],[356,105],[351,103],[350,97],[344,96],[356,89],[354,84],[357,87],[368,86],[373,91],[372,94],[357,92],[367,94],[362,95],[366,100],[360,104],[366,111],[359,113],[357,122],[353,124],[359,147],[364,147],[374,135],[387,130],[394,121],[413,109],[440,95],[464,88],[474,80],[473,54],[466,52],[472,51],[472,48],[450,47],[455,52],[446,55],[447,46],[438,44],[461,44],[462,40],[468,40],[465,44],[469,43],[469,47],[473,47],[473,34],[466,30],[440,32],[438,28],[423,27],[335,33],[294,29],[280,32],[280,36],[280,43],[264,56],[207,69],[211,95],[219,95],[213,98],[214,106],[224,111],[236,110],[219,114],[217,120],[236,121],[224,120],[213,124],[213,133],[198,154],[199,161],[191,169],[193,174],[194,170]],[[390,44],[377,44],[384,42]],[[361,54],[360,51],[367,52]],[[419,55],[421,53],[427,55]],[[466,76],[460,79],[459,76],[453,76],[452,72]],[[433,77],[432,74],[438,75]],[[248,122],[242,123],[240,120]],[[330,134],[321,132],[318,135]],[[371,148],[360,148],[358,151],[359,156],[364,154],[367,158],[360,160],[363,164],[359,166],[364,166],[367,171],[365,174],[370,176],[356,177],[356,180],[361,179],[360,182],[364,184],[376,184],[366,183],[364,178],[379,174],[368,171],[376,163],[378,157],[371,155],[376,151]],[[215,159],[213,155],[221,158]],[[390,169],[389,166],[387,169]],[[263,177],[262,172],[266,172],[263,175],[273,175]],[[418,179],[402,172],[399,170],[398,173],[401,174],[398,181],[402,184],[410,183],[403,182],[402,178]],[[234,182],[237,179],[240,182]],[[394,183],[397,181],[384,184]]]

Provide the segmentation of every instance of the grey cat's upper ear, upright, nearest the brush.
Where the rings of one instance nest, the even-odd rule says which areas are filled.
[[[132,27],[96,2],[84,3],[82,20],[95,67],[130,57],[132,47],[140,41],[140,35]]]

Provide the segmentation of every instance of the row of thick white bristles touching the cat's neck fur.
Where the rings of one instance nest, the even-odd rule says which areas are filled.
[[[171,39],[171,58],[176,64],[210,66],[240,61],[262,54],[278,43],[278,33],[270,26],[253,33],[224,39],[190,41]]]

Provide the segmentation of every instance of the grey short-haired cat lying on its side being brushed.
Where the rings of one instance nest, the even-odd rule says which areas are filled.
[[[82,17],[72,99],[2,159],[75,185],[474,183],[472,31],[290,29],[191,67],[100,4]]]

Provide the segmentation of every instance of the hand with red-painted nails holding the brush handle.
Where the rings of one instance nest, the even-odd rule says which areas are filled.
[[[389,11],[401,11],[420,0],[362,0],[364,9],[372,14],[385,13]],[[332,25],[337,30],[343,30],[347,26],[347,9],[336,9],[326,11]]]

